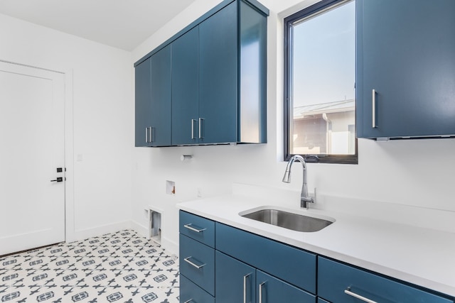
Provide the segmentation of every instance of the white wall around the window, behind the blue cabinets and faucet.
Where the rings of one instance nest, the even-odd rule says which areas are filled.
[[[198,0],[133,51],[133,62],[218,4]],[[132,219],[145,231],[144,208],[163,209],[164,246],[176,250],[176,203],[226,194],[232,182],[263,184],[299,191],[301,173],[294,169],[291,184],[281,182],[282,162],[282,18],[315,0],[261,0],[268,19],[268,143],[175,148],[135,148],[133,154]],[[284,12],[284,13],[283,13]],[[358,141],[358,165],[309,164],[309,187],[319,193],[353,199],[392,202],[455,211],[452,192],[455,140]],[[181,162],[181,154],[193,154]],[[166,180],[176,182],[176,194],[166,194]],[[298,203],[298,202],[296,202]],[[279,204],[279,201],[277,201]]]

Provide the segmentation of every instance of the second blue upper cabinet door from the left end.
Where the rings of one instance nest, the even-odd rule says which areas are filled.
[[[149,146],[171,145],[171,45],[150,57]]]

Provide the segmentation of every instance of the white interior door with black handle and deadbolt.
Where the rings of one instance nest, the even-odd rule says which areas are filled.
[[[63,74],[0,62],[0,255],[65,241],[64,101]]]

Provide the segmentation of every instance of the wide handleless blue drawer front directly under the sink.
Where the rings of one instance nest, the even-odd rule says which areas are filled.
[[[316,255],[247,231],[216,224],[216,249],[303,290],[316,293]]]

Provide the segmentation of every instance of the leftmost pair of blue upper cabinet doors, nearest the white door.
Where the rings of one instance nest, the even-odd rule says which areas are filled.
[[[136,146],[171,145],[171,45],[135,69]]]

